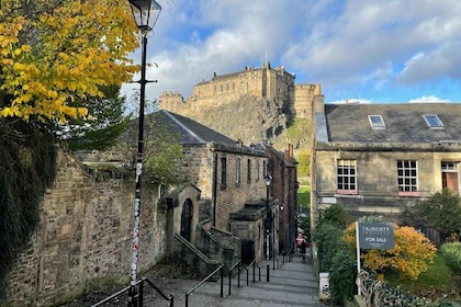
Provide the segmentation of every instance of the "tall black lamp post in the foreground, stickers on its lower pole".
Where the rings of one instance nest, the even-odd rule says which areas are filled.
[[[139,98],[139,126],[138,143],[136,156],[136,187],[134,200],[134,226],[133,226],[133,249],[130,282],[128,307],[137,307],[138,295],[136,289],[137,282],[137,257],[139,248],[139,214],[140,214],[140,174],[143,170],[143,149],[144,149],[144,104],[146,100],[146,83],[155,82],[146,80],[146,50],[147,34],[153,31],[161,7],[155,0],[128,0],[132,8],[133,16],[142,35],[142,61],[140,61],[140,98]]]

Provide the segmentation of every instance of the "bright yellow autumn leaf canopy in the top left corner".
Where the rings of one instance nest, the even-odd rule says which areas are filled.
[[[138,70],[126,0],[2,0],[0,117],[86,116],[86,98]]]

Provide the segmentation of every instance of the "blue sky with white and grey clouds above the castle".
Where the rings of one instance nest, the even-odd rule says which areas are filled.
[[[214,72],[267,58],[296,83],[321,83],[327,103],[461,102],[459,0],[157,1],[149,100],[164,91],[187,99]],[[133,58],[140,62],[139,52]]]

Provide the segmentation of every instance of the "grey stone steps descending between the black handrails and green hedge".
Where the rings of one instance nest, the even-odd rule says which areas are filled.
[[[232,281],[228,295],[228,278],[225,278],[224,297],[221,297],[220,282],[206,283],[189,296],[189,306],[193,307],[254,307],[254,306],[325,306],[318,299],[318,282],[311,264],[302,258],[292,258],[291,262],[280,263],[280,268],[272,270],[270,263],[270,282],[266,278],[266,262],[261,269],[261,281],[256,278],[246,284],[246,271],[241,274],[240,287],[237,278]],[[175,297],[175,306],[185,306],[184,298]],[[184,299],[185,300],[185,299]]]

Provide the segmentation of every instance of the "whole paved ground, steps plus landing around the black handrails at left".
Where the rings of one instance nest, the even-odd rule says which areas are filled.
[[[270,262],[270,281],[266,277],[266,261],[260,263],[261,278],[259,281],[258,270],[256,270],[256,282],[252,282],[252,270],[249,272],[247,285],[247,273],[240,273],[240,286],[238,278],[234,276],[231,281],[231,295],[228,286],[228,275],[224,277],[223,297],[221,297],[221,281],[206,282],[198,287],[185,299],[185,293],[198,285],[198,281],[160,278],[155,280],[166,295],[175,296],[175,307],[321,307],[324,306],[318,299],[318,282],[312,272],[312,265],[303,262],[301,257],[292,258],[291,262],[282,263],[273,270],[273,262]],[[114,293],[114,292],[112,292]],[[111,293],[111,294],[112,294]],[[95,292],[87,297],[74,300],[64,307],[87,307],[108,297],[108,293]],[[169,306],[169,302],[161,298],[150,287],[146,286],[144,293],[145,307]],[[126,293],[111,300],[103,306],[126,307]]]

